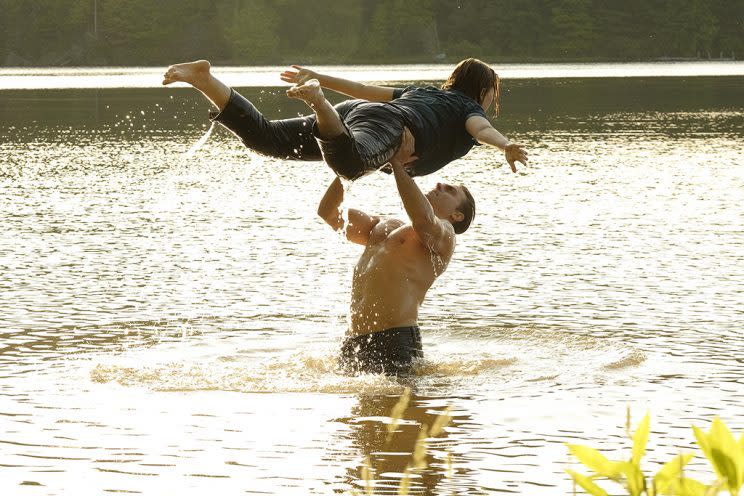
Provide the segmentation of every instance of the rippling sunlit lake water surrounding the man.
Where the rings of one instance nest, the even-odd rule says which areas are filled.
[[[304,112],[278,70],[225,74]],[[564,443],[627,456],[627,405],[649,471],[693,423],[744,428],[744,64],[506,67],[495,125],[531,163],[481,147],[418,181],[467,184],[478,215],[407,380],[335,372],[360,248],[315,216],[330,169],[219,128],[189,153],[208,106],[161,72],[0,70],[0,493],[333,494],[365,457],[395,493],[451,406],[413,493],[570,494]],[[404,215],[383,174],[348,203]]]

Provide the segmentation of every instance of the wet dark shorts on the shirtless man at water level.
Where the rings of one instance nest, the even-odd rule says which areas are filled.
[[[418,326],[394,327],[346,338],[340,363],[348,374],[405,375],[414,359],[423,356]]]

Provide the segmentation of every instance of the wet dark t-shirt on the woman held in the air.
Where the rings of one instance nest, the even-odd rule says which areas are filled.
[[[477,142],[465,130],[474,115],[486,117],[478,102],[457,90],[408,86],[393,92],[389,102],[400,113],[416,140],[418,160],[412,176],[431,174],[468,153]]]

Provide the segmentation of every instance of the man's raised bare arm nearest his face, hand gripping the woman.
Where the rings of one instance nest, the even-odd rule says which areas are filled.
[[[445,222],[434,213],[431,203],[421,192],[413,178],[405,170],[405,164],[416,159],[413,156],[414,139],[408,128],[403,132],[400,148],[390,160],[398,186],[400,199],[411,219],[413,230],[421,242],[434,253],[445,255],[455,247],[455,231],[452,224]]]

